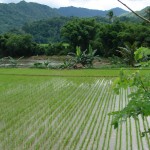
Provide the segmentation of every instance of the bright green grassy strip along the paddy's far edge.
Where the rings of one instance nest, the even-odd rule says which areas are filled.
[[[135,69],[126,69],[128,73],[135,72]],[[81,69],[81,70],[46,70],[46,69],[0,69],[0,75],[33,75],[33,76],[83,76],[83,77],[116,77],[120,69]],[[142,74],[149,74],[150,70],[142,70]]]

